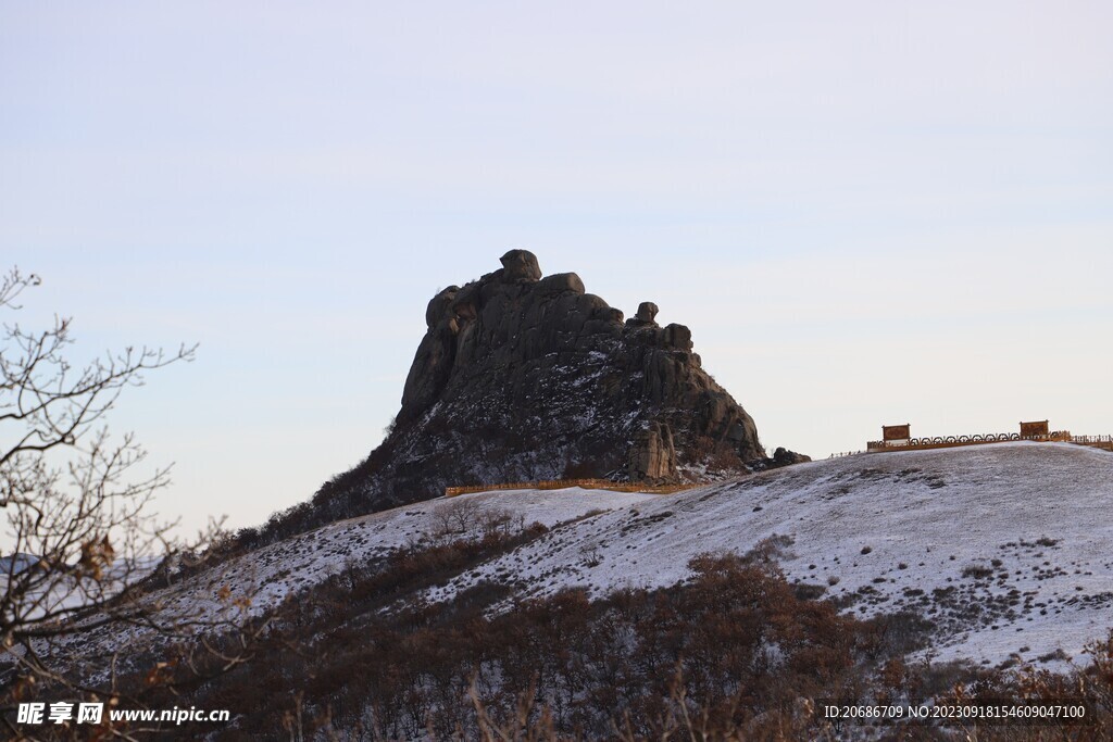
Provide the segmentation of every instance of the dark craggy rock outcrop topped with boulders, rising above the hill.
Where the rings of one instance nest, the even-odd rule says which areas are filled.
[[[575,274],[542,277],[532,253],[502,266],[429,303],[393,431],[315,507],[343,517],[451,485],[697,481],[766,461],[754,421],[657,305],[623,321]]]

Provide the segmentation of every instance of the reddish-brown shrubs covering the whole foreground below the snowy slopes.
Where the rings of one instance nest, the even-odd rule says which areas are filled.
[[[230,726],[205,730],[219,740],[854,739],[858,726],[820,718],[823,700],[1080,696],[1095,723],[902,724],[876,728],[875,739],[1111,739],[1113,636],[1073,676],[907,662],[929,625],[909,613],[843,616],[818,600],[821,586],[788,584],[776,568],[786,536],[745,556],[699,556],[690,580],[663,590],[508,603],[525,585],[504,574],[427,603],[426,588],[546,533],[491,526],[456,504],[445,526],[469,537],[349,565],[293,596],[259,622],[262,639],[236,666],[219,666],[217,642],[168,663],[149,689],[142,676],[128,682],[148,708],[188,699],[233,710]]]

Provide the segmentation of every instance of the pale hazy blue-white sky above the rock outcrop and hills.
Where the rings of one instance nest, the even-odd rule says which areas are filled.
[[[307,498],[523,247],[691,327],[762,443],[1113,433],[1113,4],[0,0],[0,267],[161,511]],[[10,317],[6,318],[10,319]]]

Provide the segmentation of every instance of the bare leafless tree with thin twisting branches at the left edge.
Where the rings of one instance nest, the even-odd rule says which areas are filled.
[[[16,314],[39,284],[10,270],[0,278],[0,313]],[[152,513],[168,468],[150,466],[130,434],[106,427],[125,389],[191,360],[196,346],[128,347],[75,364],[70,327],[56,316],[45,329],[0,330],[0,706],[28,683],[72,687],[65,649],[106,627],[183,630],[159,625],[157,604],[136,585],[199,546],[176,543],[173,524]]]

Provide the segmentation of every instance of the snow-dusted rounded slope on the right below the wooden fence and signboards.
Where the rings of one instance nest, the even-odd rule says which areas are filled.
[[[500,575],[529,595],[663,586],[696,554],[745,553],[774,534],[795,542],[789,581],[828,587],[847,611],[924,612],[940,661],[1082,660],[1113,626],[1113,454],[1070,444],[866,454],[660,496],[561,527],[427,597]]]

